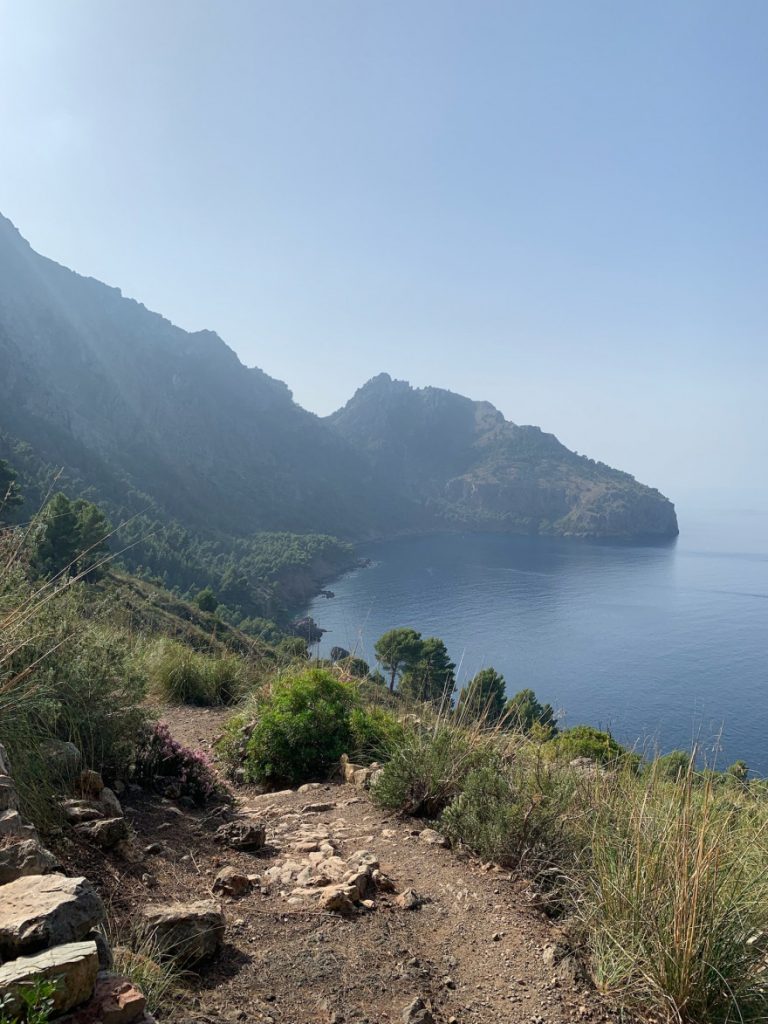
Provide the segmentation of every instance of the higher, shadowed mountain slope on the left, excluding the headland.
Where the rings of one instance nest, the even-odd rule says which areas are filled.
[[[0,220],[0,429],[117,504],[246,534],[365,526],[366,466],[285,384]],[[335,479],[337,487],[330,485]]]

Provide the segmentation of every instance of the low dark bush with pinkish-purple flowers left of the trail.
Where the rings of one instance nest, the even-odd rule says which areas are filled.
[[[202,751],[182,746],[164,722],[142,731],[132,777],[163,796],[174,800],[189,797],[199,805],[224,796],[208,757]]]

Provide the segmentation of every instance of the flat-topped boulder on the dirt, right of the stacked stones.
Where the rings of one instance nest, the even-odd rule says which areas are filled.
[[[224,938],[224,914],[214,900],[145,906],[141,919],[158,951],[186,967],[213,956]]]

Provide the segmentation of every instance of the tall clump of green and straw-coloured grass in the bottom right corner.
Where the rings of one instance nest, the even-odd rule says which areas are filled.
[[[765,806],[651,766],[604,780],[587,812],[575,893],[598,985],[690,1024],[768,1016]]]

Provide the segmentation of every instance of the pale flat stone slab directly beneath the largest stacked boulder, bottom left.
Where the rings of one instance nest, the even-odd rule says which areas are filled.
[[[56,982],[53,1008],[62,1014],[91,997],[97,974],[95,942],[70,942],[34,956],[18,956],[0,967],[0,1002],[7,999],[3,1011],[13,1019],[23,1007],[18,992],[25,983],[50,978]]]

